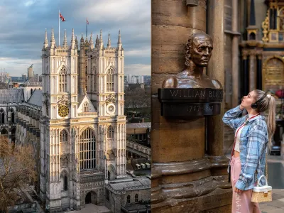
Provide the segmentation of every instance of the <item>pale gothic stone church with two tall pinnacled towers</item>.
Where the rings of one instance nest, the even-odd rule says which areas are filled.
[[[65,32],[62,46],[55,45],[53,30],[48,43],[45,31],[42,75],[42,90],[36,89],[28,102],[18,101],[13,110],[16,143],[33,143],[35,148],[37,190],[45,208],[60,212],[92,202],[120,212],[126,196],[129,203],[133,193],[137,202],[147,200],[150,195],[143,190],[150,192],[150,180],[134,181],[126,176],[120,32],[116,47],[111,47],[110,35],[104,46],[101,31],[95,44],[92,34],[89,41],[82,37],[79,51],[74,30],[70,45]],[[118,191],[117,180],[127,182],[124,184],[132,191],[126,192],[121,183]],[[112,193],[125,196],[110,201]],[[116,202],[115,207],[111,202]]]

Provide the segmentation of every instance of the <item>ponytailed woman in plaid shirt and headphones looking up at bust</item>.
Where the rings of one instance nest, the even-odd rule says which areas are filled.
[[[239,117],[244,109],[249,115]],[[266,110],[268,117],[263,114]],[[251,202],[251,195],[253,186],[264,173],[266,148],[271,147],[275,131],[275,99],[271,94],[253,90],[238,107],[224,114],[223,121],[236,131],[230,160],[231,212],[261,213],[258,203]],[[264,184],[262,179],[261,184]]]

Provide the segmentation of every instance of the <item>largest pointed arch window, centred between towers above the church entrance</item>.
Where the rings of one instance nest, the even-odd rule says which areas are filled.
[[[91,129],[85,129],[80,136],[80,170],[96,168],[96,138]]]

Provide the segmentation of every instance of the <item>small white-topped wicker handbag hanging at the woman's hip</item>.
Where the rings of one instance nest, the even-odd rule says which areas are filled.
[[[261,178],[265,178],[266,185],[261,186]],[[251,202],[270,202],[272,201],[272,187],[268,185],[267,178],[261,175],[258,178],[258,182],[255,187],[253,187],[253,193],[251,195]]]

